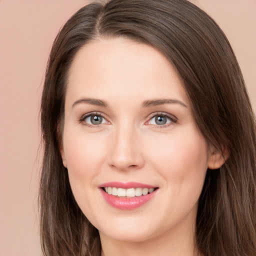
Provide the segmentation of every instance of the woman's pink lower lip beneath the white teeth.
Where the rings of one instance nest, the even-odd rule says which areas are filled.
[[[142,204],[144,204],[145,202],[150,200],[154,196],[155,191],[158,189],[154,190],[153,192],[151,192],[149,194],[135,196],[135,197],[118,197],[118,196],[106,193],[101,188],[100,188],[100,190],[101,190],[101,193],[102,193],[104,199],[111,206],[118,208],[118,209],[122,209],[122,210],[132,210],[132,209],[138,208],[139,206],[141,206]]]

